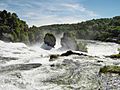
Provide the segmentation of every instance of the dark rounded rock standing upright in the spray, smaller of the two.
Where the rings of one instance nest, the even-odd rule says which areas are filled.
[[[53,34],[47,33],[44,37],[44,43],[50,47],[54,47],[56,44],[56,38]]]

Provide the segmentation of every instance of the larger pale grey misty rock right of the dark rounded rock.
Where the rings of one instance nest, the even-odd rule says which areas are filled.
[[[61,45],[62,49],[64,50],[78,50],[77,41],[75,40],[72,33],[64,33],[63,37],[61,38]]]

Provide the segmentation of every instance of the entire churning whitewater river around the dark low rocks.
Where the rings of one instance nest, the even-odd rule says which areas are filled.
[[[49,61],[51,54],[66,51],[43,50],[40,46],[0,41],[0,90],[120,90],[120,76],[100,74],[105,65],[120,65],[119,44],[85,40],[88,56],[64,56]],[[79,51],[75,51],[79,52]],[[82,52],[79,52],[82,53]]]

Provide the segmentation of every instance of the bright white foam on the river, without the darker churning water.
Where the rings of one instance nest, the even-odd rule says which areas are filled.
[[[1,63],[0,65],[12,65],[12,64],[21,64],[21,63],[41,63],[42,66],[33,70],[29,71],[18,71],[22,78],[16,78],[11,76],[11,73],[4,75],[0,75],[0,90],[61,90],[61,86],[57,84],[50,84],[46,83],[43,84],[42,80],[46,80],[49,78],[56,78],[60,75],[65,73],[65,69],[51,69],[50,64],[54,63],[61,63],[64,59],[73,59],[73,57],[77,56],[68,56],[62,57],[54,62],[49,62],[49,55],[50,54],[61,54],[61,51],[58,51],[59,44],[56,45],[55,48],[51,50],[44,50],[40,48],[39,44],[34,46],[28,47],[23,43],[6,43],[0,41],[0,56],[1,57],[14,57],[18,58],[17,60],[10,60],[6,63]],[[101,55],[110,55],[118,53],[117,49],[120,46],[114,43],[103,43],[103,42],[95,42],[95,43],[88,43],[88,54],[93,56],[101,56]],[[65,52],[65,51],[64,51]],[[95,62],[91,58],[78,58],[75,59],[80,60],[80,62]],[[74,60],[74,61],[75,61]],[[115,61],[114,62],[118,62]],[[112,64],[112,59],[105,59],[103,64]],[[14,71],[12,73],[15,73]],[[8,82],[9,81],[9,82]],[[19,84],[25,84],[26,88],[20,88],[14,85],[13,82],[19,82]],[[7,83],[6,83],[7,82]],[[87,81],[86,81],[87,82]],[[86,85],[86,84],[85,84]]]

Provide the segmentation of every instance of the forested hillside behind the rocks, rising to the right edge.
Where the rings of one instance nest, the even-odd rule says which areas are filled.
[[[43,30],[72,32],[78,39],[89,39],[120,43],[120,16],[93,19],[77,24],[55,24],[42,26]]]

